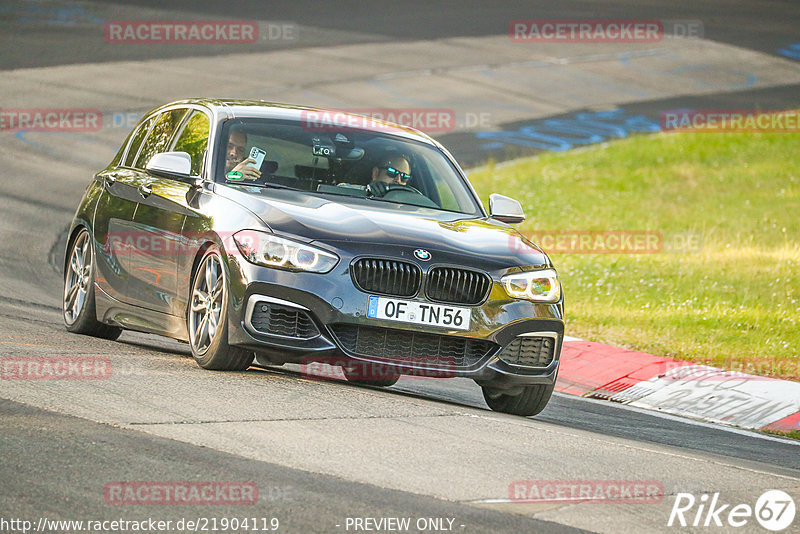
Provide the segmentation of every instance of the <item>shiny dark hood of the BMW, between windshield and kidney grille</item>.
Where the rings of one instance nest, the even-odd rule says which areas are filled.
[[[288,190],[249,187],[248,194],[240,195],[239,187],[223,189],[277,234],[354,254],[369,244],[366,250],[374,254],[394,250],[406,256],[409,250],[425,249],[440,253],[436,260],[477,260],[488,269],[550,265],[546,254],[517,230],[487,217]]]

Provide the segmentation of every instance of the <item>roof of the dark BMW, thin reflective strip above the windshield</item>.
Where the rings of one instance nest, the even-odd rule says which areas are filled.
[[[434,139],[423,132],[389,121],[379,120],[361,113],[352,111],[296,106],[267,102],[265,100],[235,100],[214,98],[192,98],[179,100],[166,104],[164,107],[193,104],[203,106],[214,111],[215,115],[224,119],[259,118],[283,119],[295,121],[314,121],[315,124],[347,124],[350,128],[360,130],[375,130],[383,133],[421,141],[423,143],[440,146]],[[368,110],[364,110],[367,112]],[[376,108],[376,111],[380,111]],[[355,126],[353,126],[355,125]]]

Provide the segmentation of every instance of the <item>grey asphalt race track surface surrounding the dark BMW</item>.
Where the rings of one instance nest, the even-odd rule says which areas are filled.
[[[797,2],[164,4],[0,6],[0,109],[104,115],[88,133],[0,131],[0,357],[96,356],[112,368],[106,380],[0,381],[1,532],[15,531],[2,523],[11,518],[232,517],[277,518],[279,532],[355,531],[352,519],[368,517],[445,519],[423,521],[426,532],[669,532],[689,530],[667,526],[679,493],[752,507],[780,489],[800,505],[796,441],[558,394],[526,419],[489,411],[464,379],[382,390],[293,366],[218,373],[157,336],[71,335],[59,267],[92,173],[158,104],[446,108],[458,124],[433,135],[479,164],[541,151],[514,132],[580,113],[619,110],[634,134],[664,109],[797,107],[800,61],[779,52],[800,41]],[[507,35],[514,19],[615,17],[701,21],[704,38],[537,47]],[[242,46],[103,39],[108,20],[193,18],[288,21],[299,34]],[[526,480],[654,481],[663,494],[650,504],[514,502],[509,488]],[[109,503],[104,488],[120,481],[247,481],[258,500]],[[735,531],[764,529],[751,518]]]

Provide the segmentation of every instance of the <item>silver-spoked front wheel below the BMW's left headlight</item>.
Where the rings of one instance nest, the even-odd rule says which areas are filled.
[[[192,277],[186,306],[189,346],[197,364],[216,371],[243,371],[255,354],[228,344],[228,279],[222,256],[209,248]]]

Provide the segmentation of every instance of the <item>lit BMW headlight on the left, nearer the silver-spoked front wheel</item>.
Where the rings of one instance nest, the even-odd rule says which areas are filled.
[[[233,234],[239,252],[247,261],[279,269],[327,273],[339,257],[269,232],[242,230]]]

